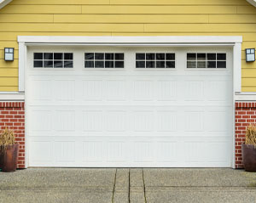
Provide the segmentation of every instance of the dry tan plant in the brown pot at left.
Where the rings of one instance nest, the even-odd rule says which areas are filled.
[[[9,145],[15,144],[15,134],[12,130],[5,128],[0,133],[0,154],[3,154]]]

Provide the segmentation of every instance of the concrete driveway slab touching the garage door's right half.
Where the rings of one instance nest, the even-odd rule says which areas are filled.
[[[230,168],[144,169],[144,180],[146,187],[247,187],[256,185],[256,174]]]

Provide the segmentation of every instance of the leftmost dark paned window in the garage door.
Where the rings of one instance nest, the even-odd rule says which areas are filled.
[[[34,53],[34,68],[73,68],[73,53]]]

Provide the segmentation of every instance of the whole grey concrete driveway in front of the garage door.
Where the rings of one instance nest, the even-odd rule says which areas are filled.
[[[30,168],[0,172],[0,202],[256,202],[256,173],[224,168]]]

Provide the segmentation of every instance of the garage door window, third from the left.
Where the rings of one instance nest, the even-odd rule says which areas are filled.
[[[175,68],[175,54],[137,53],[136,68]]]

